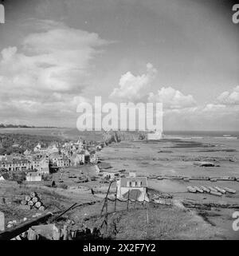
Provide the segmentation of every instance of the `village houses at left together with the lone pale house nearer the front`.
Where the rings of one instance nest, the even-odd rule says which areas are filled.
[[[103,147],[104,144],[86,144],[82,140],[52,144],[48,148],[42,148],[39,143],[33,151],[25,150],[23,155],[0,156],[0,169],[5,169],[2,175],[0,172],[0,180],[25,171],[27,181],[41,181],[42,175],[49,174],[50,169],[87,165],[85,167],[92,167],[96,175],[116,179],[117,198],[148,201],[147,178],[136,177],[135,172],[126,174],[125,170],[111,171],[108,163],[98,161],[96,152]]]

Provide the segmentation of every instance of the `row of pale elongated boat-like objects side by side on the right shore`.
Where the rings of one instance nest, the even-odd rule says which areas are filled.
[[[188,186],[186,187],[187,191],[189,191],[190,193],[210,193],[212,195],[219,195],[221,196],[222,194],[226,194],[226,193],[231,193],[231,194],[235,194],[237,191],[229,188],[229,187],[205,187],[205,186]]]

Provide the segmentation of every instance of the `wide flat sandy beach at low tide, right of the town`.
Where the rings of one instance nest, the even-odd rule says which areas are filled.
[[[182,175],[182,176],[233,176],[239,177],[239,140],[226,138],[191,138],[175,140],[132,141],[112,144],[100,152],[100,157],[112,165],[112,171],[126,169],[135,171],[138,176],[152,175]],[[195,160],[213,160],[216,166],[195,166]],[[188,186],[218,186],[229,187],[236,190],[236,194],[225,194],[222,196],[189,193]],[[190,199],[203,203],[238,203],[239,182],[182,179],[148,179],[148,187],[157,191],[170,193],[174,199]],[[210,211],[194,211],[200,215],[211,226],[222,230],[226,238],[239,238],[237,232],[233,231],[234,209],[215,208]]]

